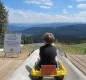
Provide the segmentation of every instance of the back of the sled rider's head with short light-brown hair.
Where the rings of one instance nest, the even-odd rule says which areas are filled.
[[[55,40],[55,37],[52,33],[45,33],[43,36],[43,40],[47,44],[52,44]]]

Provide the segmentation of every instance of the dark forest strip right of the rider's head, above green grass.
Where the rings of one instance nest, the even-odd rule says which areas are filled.
[[[56,35],[56,39],[60,43],[65,44],[79,44],[79,43],[86,43],[85,37],[73,36],[73,35]]]

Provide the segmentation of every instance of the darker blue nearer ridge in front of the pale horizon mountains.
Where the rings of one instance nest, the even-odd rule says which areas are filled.
[[[60,27],[31,27],[21,31],[23,34],[39,35],[45,32],[52,32],[53,34],[61,35],[77,35],[79,37],[85,37],[86,35],[86,24],[74,24],[65,25]]]

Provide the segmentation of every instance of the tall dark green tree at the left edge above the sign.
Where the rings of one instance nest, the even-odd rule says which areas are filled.
[[[8,24],[8,12],[6,11],[3,3],[0,1],[0,37],[2,37],[6,31]]]

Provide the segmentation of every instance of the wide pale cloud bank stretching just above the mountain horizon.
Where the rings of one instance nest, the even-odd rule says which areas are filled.
[[[13,9],[9,7],[6,7],[6,9],[9,11],[8,18],[10,23],[86,22],[86,11],[68,16],[36,13],[31,10]],[[67,10],[63,11],[67,13]]]

